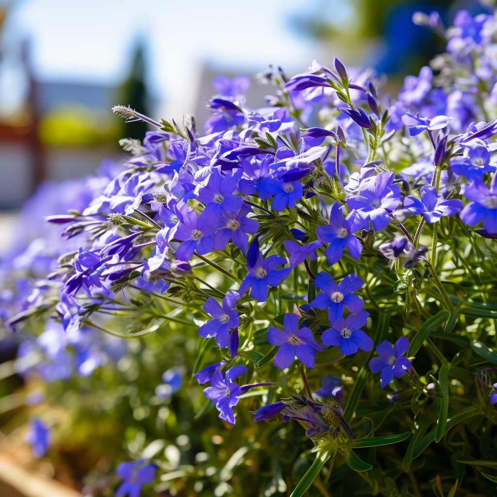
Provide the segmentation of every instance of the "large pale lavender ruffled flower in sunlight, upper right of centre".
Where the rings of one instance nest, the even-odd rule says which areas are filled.
[[[392,212],[401,202],[400,187],[392,184],[393,172],[380,172],[363,179],[359,193],[346,199],[348,206],[360,214],[364,223],[370,221],[375,230],[382,230],[390,222]]]

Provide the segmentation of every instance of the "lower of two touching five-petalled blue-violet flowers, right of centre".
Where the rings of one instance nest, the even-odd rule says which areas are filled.
[[[360,311],[358,314],[349,314],[347,318],[338,318],[329,330],[323,333],[322,340],[326,346],[340,346],[340,352],[345,355],[355,354],[360,348],[369,352],[373,340],[361,330],[366,326],[369,313]]]

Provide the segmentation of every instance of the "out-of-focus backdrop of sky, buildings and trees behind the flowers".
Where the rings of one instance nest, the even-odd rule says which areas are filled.
[[[142,138],[143,123],[125,125],[112,105],[194,113],[201,129],[215,76],[250,76],[248,104],[263,106],[272,89],[253,75],[334,55],[386,74],[394,91],[444,48],[413,12],[437,10],[450,25],[460,8],[483,10],[475,0],[0,0],[0,212],[43,180],[118,158],[119,138]]]

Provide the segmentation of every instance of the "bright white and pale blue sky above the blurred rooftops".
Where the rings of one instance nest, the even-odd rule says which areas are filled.
[[[126,76],[134,43],[142,38],[152,92],[174,114],[193,100],[204,63],[220,72],[254,74],[269,64],[289,73],[305,70],[320,57],[320,47],[289,19],[316,12],[324,1],[14,0],[2,46],[13,54],[29,37],[40,80],[115,84]],[[330,3],[339,22],[346,8],[339,0]],[[0,105],[8,107],[22,91],[22,75],[8,69],[8,57],[3,66]]]

